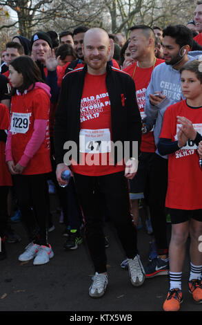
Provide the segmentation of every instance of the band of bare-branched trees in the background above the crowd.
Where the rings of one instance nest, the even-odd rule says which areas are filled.
[[[0,30],[16,26],[28,38],[34,31],[61,32],[79,25],[103,27],[108,32],[125,32],[134,24],[186,24],[194,12],[192,0],[0,0],[0,18],[14,10],[17,19],[7,19]]]

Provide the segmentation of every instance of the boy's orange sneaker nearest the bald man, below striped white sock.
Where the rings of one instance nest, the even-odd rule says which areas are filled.
[[[167,298],[163,304],[164,311],[178,311],[180,304],[183,302],[182,292],[178,288],[168,291]]]

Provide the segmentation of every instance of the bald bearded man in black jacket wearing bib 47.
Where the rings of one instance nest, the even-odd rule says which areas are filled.
[[[85,32],[86,64],[63,78],[54,129],[57,180],[65,185],[61,173],[70,171],[83,210],[95,272],[89,289],[93,298],[103,296],[108,285],[104,213],[112,219],[128,257],[132,285],[141,286],[145,279],[128,196],[128,180],[137,172],[141,117],[134,82],[108,64],[109,53],[105,30],[91,28]],[[118,146],[117,151],[113,150],[115,143],[121,151]]]

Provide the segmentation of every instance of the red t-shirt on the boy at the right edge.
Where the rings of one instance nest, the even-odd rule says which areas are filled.
[[[177,115],[192,121],[194,129],[202,134],[202,107],[192,109],[183,100],[166,109],[160,138],[177,140]],[[181,210],[202,209],[202,170],[196,149],[194,142],[188,140],[185,147],[169,155],[166,207]]]

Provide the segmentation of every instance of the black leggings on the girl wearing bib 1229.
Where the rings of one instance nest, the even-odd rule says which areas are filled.
[[[28,232],[33,231],[35,220],[39,226],[39,245],[47,245],[48,174],[15,175],[14,189],[17,196],[22,221]]]

